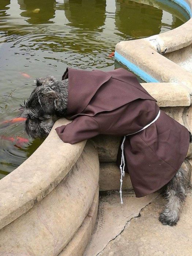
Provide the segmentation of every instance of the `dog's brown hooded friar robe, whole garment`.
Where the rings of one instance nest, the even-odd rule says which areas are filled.
[[[159,112],[156,100],[123,68],[109,72],[68,68],[68,117],[72,123],[56,128],[71,144],[98,134],[127,135],[150,124]],[[162,110],[143,131],[126,136],[125,171],[137,197],[153,193],[169,182],[184,161],[188,130]],[[119,148],[117,162],[121,161]],[[110,177],[109,177],[110,178]]]

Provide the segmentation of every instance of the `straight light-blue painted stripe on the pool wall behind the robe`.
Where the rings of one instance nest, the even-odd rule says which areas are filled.
[[[135,64],[131,63],[125,57],[121,56],[119,53],[115,52],[115,59],[120,61],[123,65],[128,67],[129,70],[131,70],[133,73],[135,73],[137,76],[142,78],[144,81],[148,83],[158,83],[159,81],[153,78],[152,76],[148,75],[146,72],[144,72],[142,69],[137,67]]]

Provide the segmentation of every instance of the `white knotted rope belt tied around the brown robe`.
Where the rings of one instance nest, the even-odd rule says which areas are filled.
[[[121,165],[120,165],[120,170],[121,170],[121,178],[120,178],[120,197],[121,197],[121,204],[123,204],[123,199],[122,199],[122,185],[123,185],[123,177],[125,176],[125,156],[124,156],[124,142],[125,142],[125,138],[126,136],[129,136],[129,135],[133,135],[133,134],[136,134],[138,132],[141,132],[143,131],[144,129],[146,129],[147,127],[149,127],[151,124],[155,123],[155,121],[157,121],[157,119],[159,118],[160,116],[160,110],[159,110],[159,113],[158,115],[155,117],[155,119],[150,123],[150,124],[147,124],[145,127],[143,127],[142,129],[140,129],[139,131],[137,132],[133,132],[133,133],[130,133],[130,134],[127,134],[124,136],[123,138],[123,142],[121,143]]]

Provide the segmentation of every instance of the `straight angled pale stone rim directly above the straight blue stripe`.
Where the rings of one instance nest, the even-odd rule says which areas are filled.
[[[161,35],[163,34],[166,33]],[[151,40],[153,41],[153,38]],[[192,74],[159,54],[145,39],[119,42],[116,45],[116,52],[160,83],[184,82],[192,93]]]

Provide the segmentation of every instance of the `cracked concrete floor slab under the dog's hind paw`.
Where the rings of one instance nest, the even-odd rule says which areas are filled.
[[[176,226],[158,221],[165,204],[158,193],[136,198],[124,193],[100,198],[98,223],[84,256],[191,256],[192,193]]]

